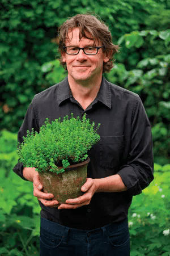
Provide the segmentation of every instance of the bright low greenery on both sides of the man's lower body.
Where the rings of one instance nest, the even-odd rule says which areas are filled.
[[[16,135],[2,131],[0,144],[0,255],[39,255],[40,206],[31,182],[12,171]],[[155,179],[133,198],[129,211],[131,256],[169,256],[170,165],[155,163]]]

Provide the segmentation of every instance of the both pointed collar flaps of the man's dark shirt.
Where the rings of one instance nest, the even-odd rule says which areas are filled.
[[[73,95],[71,94],[69,81],[66,77],[65,80],[59,83],[57,95],[58,104],[61,104],[64,100],[69,99],[71,97],[73,97]],[[111,85],[104,77],[102,78],[100,90],[95,99],[95,102],[97,101],[100,101],[101,103],[105,104],[105,106],[107,106],[108,108],[111,108]]]

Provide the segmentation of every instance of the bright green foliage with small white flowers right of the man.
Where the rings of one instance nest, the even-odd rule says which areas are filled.
[[[129,211],[132,256],[170,255],[170,165],[154,167],[154,181],[133,198]]]

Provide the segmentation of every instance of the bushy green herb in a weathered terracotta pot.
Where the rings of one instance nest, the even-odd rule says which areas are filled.
[[[17,152],[24,166],[35,167],[39,172],[44,192],[50,192],[55,200],[65,203],[66,199],[82,195],[80,188],[86,182],[88,150],[100,136],[95,123],[86,114],[76,118],[63,117],[45,124],[37,133],[27,131]]]

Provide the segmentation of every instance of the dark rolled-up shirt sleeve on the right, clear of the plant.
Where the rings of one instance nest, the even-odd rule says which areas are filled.
[[[138,195],[154,179],[154,157],[150,121],[138,98],[131,120],[131,138],[128,161],[118,174],[130,195]]]

